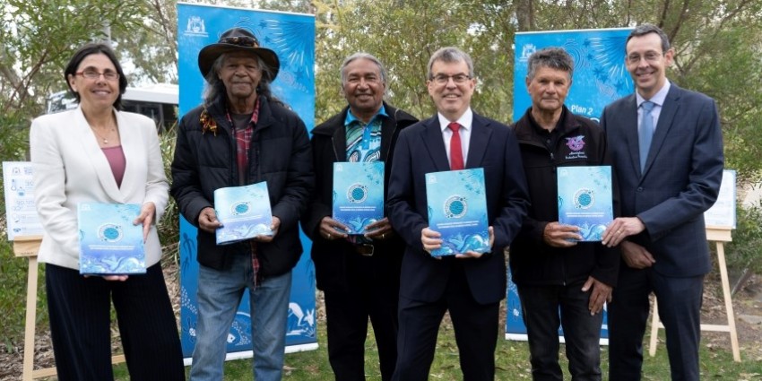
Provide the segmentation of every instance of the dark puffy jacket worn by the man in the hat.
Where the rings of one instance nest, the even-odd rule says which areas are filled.
[[[179,211],[198,227],[198,216],[213,207],[213,192],[238,186],[236,142],[226,116],[224,100],[209,108],[217,131],[202,131],[199,117],[203,106],[190,110],[180,120],[172,186],[169,193]],[[261,274],[287,273],[299,261],[299,217],[312,193],[312,153],[307,128],[299,117],[281,104],[260,97],[259,119],[249,152],[247,184],[267,181],[273,216],[281,220],[278,233],[269,243],[257,243]],[[229,268],[230,255],[249,251],[248,242],[217,246],[214,234],[198,230],[198,262],[214,269]]]

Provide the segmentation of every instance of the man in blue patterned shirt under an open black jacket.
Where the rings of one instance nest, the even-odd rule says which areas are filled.
[[[389,380],[397,358],[397,300],[404,243],[387,218],[362,236],[332,218],[333,163],[384,161],[386,187],[394,142],[417,122],[384,101],[384,65],[356,53],[341,68],[348,106],[312,130],[316,193],[302,227],[312,238],[317,288],[325,295],[328,359],[336,380],[365,379],[368,318],[376,335],[381,379]]]

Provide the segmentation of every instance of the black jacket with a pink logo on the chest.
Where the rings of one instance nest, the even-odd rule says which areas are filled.
[[[510,249],[513,281],[522,285],[564,285],[586,281],[593,276],[615,286],[619,272],[619,248],[607,248],[600,242],[580,242],[574,247],[550,247],[542,240],[545,226],[559,221],[558,180],[556,170],[568,166],[610,165],[603,130],[593,120],[574,115],[564,107],[553,134],[534,122],[532,108],[511,126],[518,137],[524,162],[526,183],[532,205],[522,229]],[[574,151],[567,139],[584,143]],[[550,141],[550,142],[549,142]],[[549,149],[548,147],[552,147]],[[618,197],[614,186],[614,213]]]

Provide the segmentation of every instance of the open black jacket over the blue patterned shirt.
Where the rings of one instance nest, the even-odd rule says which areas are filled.
[[[418,119],[403,110],[384,103],[386,114],[381,125],[381,160],[385,162],[384,186],[389,183],[392,169],[392,154],[397,136],[406,126]],[[312,130],[312,154],[315,162],[316,192],[312,198],[302,228],[307,237],[312,238],[312,260],[315,263],[317,288],[346,288],[348,285],[348,260],[350,255],[359,255],[353,245],[344,239],[328,240],[318,233],[320,221],[333,214],[333,163],[347,160],[347,136],[344,120],[347,110],[334,115]],[[388,214],[385,214],[388,216]],[[399,287],[400,265],[404,243],[397,235],[373,242],[374,273],[368,276],[389,281]]]

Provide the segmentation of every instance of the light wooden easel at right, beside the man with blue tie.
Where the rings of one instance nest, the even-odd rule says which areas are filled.
[[[728,317],[727,325],[701,325],[701,331],[709,332],[727,332],[731,334],[731,347],[733,351],[733,359],[736,362],[740,362],[740,349],[738,346],[738,332],[735,328],[735,314],[733,314],[733,304],[731,299],[731,285],[728,281],[728,268],[725,265],[725,248],[724,242],[731,242],[732,235],[730,228],[706,228],[706,239],[709,241],[715,241],[717,244],[717,264],[720,267],[720,280],[723,283],[723,297],[725,299],[725,314]],[[656,339],[659,332],[659,328],[663,328],[661,322],[659,322],[659,307],[654,299],[654,310],[651,315],[651,343],[648,348],[648,353],[651,357],[656,355]]]

